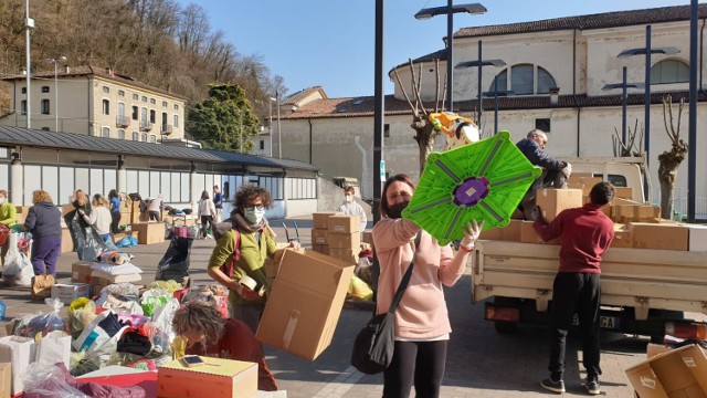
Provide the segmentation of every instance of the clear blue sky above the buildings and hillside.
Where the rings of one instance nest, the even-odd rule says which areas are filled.
[[[243,55],[257,55],[273,75],[284,78],[289,94],[321,86],[336,97],[374,94],[376,0],[177,0],[199,3],[211,30]],[[457,0],[455,4],[474,0]],[[457,13],[462,28],[529,22],[591,13],[666,6],[689,6],[688,0],[481,0],[485,14]],[[700,3],[707,0],[700,0]],[[384,1],[383,77],[386,94],[393,83],[388,72],[409,59],[444,49],[446,17],[415,20],[423,8],[446,6],[444,0]]]

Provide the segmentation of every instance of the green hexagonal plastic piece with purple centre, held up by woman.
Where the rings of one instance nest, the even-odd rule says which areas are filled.
[[[542,170],[510,142],[510,133],[432,153],[403,218],[444,245],[464,237],[467,222],[505,227]]]

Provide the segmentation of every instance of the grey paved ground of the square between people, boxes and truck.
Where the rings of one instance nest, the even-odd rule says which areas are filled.
[[[310,244],[310,220],[296,220],[303,245]],[[272,222],[284,241],[282,221]],[[287,221],[293,234],[292,220]],[[126,251],[135,254],[135,264],[145,273],[143,283],[154,280],[157,263],[169,243],[138,245]],[[205,264],[213,240],[197,240],[191,252],[190,272],[196,284],[209,283]],[[59,280],[71,279],[71,264],[75,253],[60,259]],[[7,305],[6,320],[43,311],[44,304],[30,301],[29,290],[0,287],[0,300]],[[539,386],[547,377],[547,332],[542,327],[521,326],[515,334],[496,333],[493,323],[484,321],[483,304],[471,303],[471,276],[467,272],[452,289],[446,290],[453,333],[450,342],[443,397],[534,397],[547,394]],[[291,398],[323,397],[380,397],[382,375],[367,376],[349,366],[351,344],[356,333],[366,323],[371,308],[347,304],[341,313],[331,345],[315,362],[300,359],[287,353],[265,347],[266,360]],[[4,335],[4,327],[0,335]],[[602,395],[604,397],[633,397],[624,369],[645,357],[646,337],[604,335],[602,343]],[[579,342],[571,338],[567,350],[567,392],[564,396],[584,396],[581,379]]]

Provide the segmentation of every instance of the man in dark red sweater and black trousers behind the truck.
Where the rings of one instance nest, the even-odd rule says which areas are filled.
[[[560,268],[552,283],[550,307],[550,378],[540,385],[553,392],[564,392],[564,349],[567,332],[577,312],[582,334],[582,362],[587,369],[584,387],[599,395],[599,305],[601,303],[601,256],[614,239],[614,226],[601,207],[614,197],[614,187],[598,182],[590,192],[591,201],[581,208],[567,209],[547,223],[537,210],[532,227],[544,241],[560,238]]]

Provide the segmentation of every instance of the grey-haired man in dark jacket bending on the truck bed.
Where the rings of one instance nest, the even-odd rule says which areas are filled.
[[[564,180],[572,172],[572,166],[545,153],[548,145],[548,135],[541,129],[532,129],[526,138],[519,140],[516,146],[534,166],[542,167],[542,174],[530,186],[528,192],[518,205],[526,220],[532,220],[535,208],[535,195],[538,188],[567,188]]]

